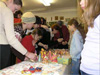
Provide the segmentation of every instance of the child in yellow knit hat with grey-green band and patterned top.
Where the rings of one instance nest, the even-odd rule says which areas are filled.
[[[22,17],[22,23],[17,23],[14,25],[14,29],[18,32],[22,38],[26,36],[26,29],[31,29],[36,22],[35,15],[32,12],[25,12]]]

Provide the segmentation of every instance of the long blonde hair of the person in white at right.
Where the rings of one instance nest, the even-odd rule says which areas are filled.
[[[82,15],[85,27],[93,27],[95,18],[100,14],[100,0],[85,0],[86,8]]]

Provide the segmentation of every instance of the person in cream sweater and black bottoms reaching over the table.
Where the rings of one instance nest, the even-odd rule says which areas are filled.
[[[13,13],[21,7],[21,0],[0,1],[0,69],[11,65],[10,45],[32,60],[36,57],[28,52],[15,37]]]

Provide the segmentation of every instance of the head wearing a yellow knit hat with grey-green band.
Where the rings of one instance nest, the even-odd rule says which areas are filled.
[[[36,18],[32,12],[26,12],[21,17],[25,29],[31,29],[36,22]]]

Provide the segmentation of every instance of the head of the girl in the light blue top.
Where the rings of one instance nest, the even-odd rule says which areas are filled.
[[[79,23],[77,22],[77,20],[71,19],[68,22],[68,29],[69,29],[69,31],[73,32],[75,29],[78,28],[78,25],[79,25]]]

